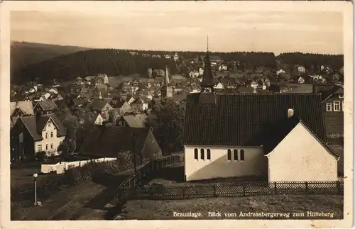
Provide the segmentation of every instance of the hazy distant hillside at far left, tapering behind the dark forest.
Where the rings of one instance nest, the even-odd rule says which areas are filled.
[[[76,46],[48,45],[28,42],[11,42],[11,69],[21,69],[44,60],[49,60],[60,55],[88,50]]]

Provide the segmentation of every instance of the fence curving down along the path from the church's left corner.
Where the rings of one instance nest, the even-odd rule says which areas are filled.
[[[118,203],[124,203],[124,201],[130,199],[131,196],[136,192],[138,186],[146,183],[148,175],[150,175],[151,172],[157,171],[163,167],[178,164],[180,162],[184,162],[184,157],[182,155],[169,155],[167,157],[162,157],[153,160],[152,162],[148,162],[135,174],[132,174],[119,185],[117,188]]]

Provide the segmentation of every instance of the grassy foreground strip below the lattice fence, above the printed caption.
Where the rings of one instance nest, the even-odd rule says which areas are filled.
[[[212,219],[208,211],[222,213],[306,213],[307,211],[323,211],[334,213],[334,218],[343,217],[343,196],[248,196],[239,198],[193,199],[179,201],[128,201],[121,214],[124,220],[163,220],[189,219],[174,218],[173,212],[202,213],[200,219]],[[306,213],[307,214],[307,213]],[[292,214],[291,214],[292,216]],[[219,219],[222,219],[219,218]],[[236,217],[234,219],[238,219]],[[293,217],[295,219],[295,217]],[[193,219],[193,218],[190,218]],[[214,218],[218,219],[218,218]],[[231,218],[233,219],[233,218]],[[275,218],[274,218],[275,219]]]

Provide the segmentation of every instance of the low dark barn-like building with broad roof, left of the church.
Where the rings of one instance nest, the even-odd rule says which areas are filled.
[[[124,152],[136,153],[141,161],[162,157],[149,128],[95,125],[80,147],[80,153],[99,157],[118,157]]]

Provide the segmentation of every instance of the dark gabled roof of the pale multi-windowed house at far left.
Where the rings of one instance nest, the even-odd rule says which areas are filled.
[[[18,121],[22,121],[28,132],[31,134],[33,140],[38,141],[43,139],[41,135],[42,130],[50,118],[52,118],[53,123],[58,127],[58,137],[64,136],[66,134],[65,127],[54,113],[42,116],[21,117],[18,118]]]

